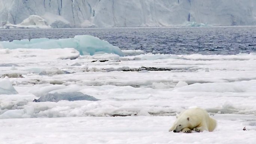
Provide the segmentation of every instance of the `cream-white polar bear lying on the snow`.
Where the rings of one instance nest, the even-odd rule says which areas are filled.
[[[190,108],[183,111],[176,116],[177,120],[174,122],[170,131],[191,133],[191,131],[203,132],[213,131],[216,128],[217,122],[211,118],[206,110],[202,108]]]

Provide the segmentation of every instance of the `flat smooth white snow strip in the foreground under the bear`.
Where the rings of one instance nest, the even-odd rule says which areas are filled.
[[[6,119],[0,121],[0,140],[5,144],[255,143],[255,126],[243,131],[244,119],[235,114],[214,118],[218,121],[214,132],[192,134],[168,132],[175,116]]]

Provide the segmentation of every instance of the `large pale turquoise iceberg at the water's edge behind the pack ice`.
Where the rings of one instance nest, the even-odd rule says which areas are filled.
[[[113,53],[124,56],[121,49],[111,45],[105,40],[89,35],[74,36],[67,39],[23,39],[13,40],[12,42],[0,42],[3,49],[58,49],[58,48],[74,48],[79,51],[80,55],[95,55],[104,53]]]

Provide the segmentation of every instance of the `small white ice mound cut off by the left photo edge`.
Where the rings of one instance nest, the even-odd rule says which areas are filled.
[[[18,94],[8,79],[0,79],[0,95]]]

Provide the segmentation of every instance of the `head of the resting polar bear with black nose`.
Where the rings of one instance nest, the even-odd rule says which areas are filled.
[[[173,127],[174,127],[173,132],[180,132],[184,128],[191,127],[192,124],[190,121],[190,117],[184,117],[184,116],[179,117],[178,115],[176,117],[177,117],[177,120],[173,124]]]

